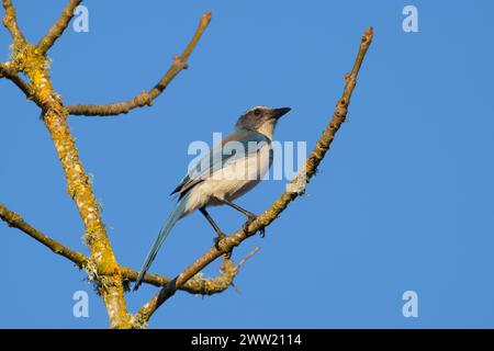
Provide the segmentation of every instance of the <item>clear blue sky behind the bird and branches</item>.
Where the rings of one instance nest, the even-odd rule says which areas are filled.
[[[34,42],[66,1],[14,1]],[[211,143],[258,105],[291,106],[279,140],[311,149],[330,116],[363,30],[373,25],[346,123],[307,195],[237,249],[235,290],[178,293],[154,328],[494,327],[494,49],[492,1],[85,1],[90,32],[71,27],[50,52],[66,103],[120,101],[149,89],[181,53],[202,12],[213,20],[154,106],[115,118],[71,117],[80,157],[117,259],[139,268],[172,207],[190,141]],[[419,32],[402,30],[418,9]],[[3,12],[1,11],[3,14]],[[0,57],[10,38],[0,30]],[[83,227],[40,111],[0,80],[0,202],[87,252]],[[285,181],[238,203],[260,213]],[[213,208],[226,231],[243,217]],[[100,298],[67,260],[0,223],[0,327],[106,327]],[[212,244],[200,214],[180,222],[154,272],[173,275]],[[217,264],[207,269],[216,275]],[[404,318],[402,294],[418,294]],[[89,318],[72,316],[87,291]],[[128,295],[135,312],[154,293]]]

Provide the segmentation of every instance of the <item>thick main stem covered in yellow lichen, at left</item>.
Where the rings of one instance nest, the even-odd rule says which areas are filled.
[[[124,298],[121,265],[115,259],[106,228],[102,222],[92,185],[86,174],[74,137],[67,124],[67,110],[52,84],[49,60],[31,43],[25,42],[20,32],[15,11],[10,0],[2,0],[5,8],[3,23],[10,30],[14,45],[12,63],[31,81],[33,94],[42,105],[42,116],[48,129],[58,159],[67,179],[67,190],[72,197],[86,227],[86,241],[91,250],[92,262],[98,267],[98,283],[106,307],[110,324],[114,328],[130,327],[130,315]]]

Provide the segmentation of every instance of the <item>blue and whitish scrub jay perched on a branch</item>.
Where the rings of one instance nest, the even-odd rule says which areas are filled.
[[[199,210],[216,233],[214,242],[217,247],[225,234],[206,207],[228,205],[247,216],[247,223],[256,218],[254,213],[233,201],[252,190],[270,169],[273,159],[271,143],[274,128],[280,117],[290,111],[290,107],[249,109],[237,120],[232,134],[190,168],[170,194],[177,194],[178,202],[150,247],[136,279],[134,291],[142,284],[162,242],[179,219]]]

